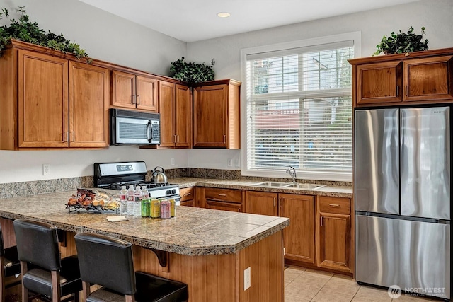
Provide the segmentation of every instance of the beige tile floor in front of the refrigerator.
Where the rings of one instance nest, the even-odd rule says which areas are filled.
[[[430,298],[404,293],[392,299],[386,289],[360,286],[351,277],[330,272],[287,267],[285,302],[424,302]],[[440,301],[440,300],[436,300]]]

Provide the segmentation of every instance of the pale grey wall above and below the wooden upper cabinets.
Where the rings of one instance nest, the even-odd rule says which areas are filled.
[[[430,49],[453,47],[452,0],[422,0],[188,45],[77,0],[0,0],[0,9],[8,8],[11,18],[18,18],[14,11],[18,6],[25,6],[30,20],[38,22],[41,28],[64,33],[64,37],[79,43],[91,57],[162,75],[168,75],[170,63],[180,57],[205,63],[214,57],[216,79],[240,80],[242,48],[357,30],[362,31],[365,57],[374,52],[382,35],[406,30],[411,25],[417,32],[425,26]],[[6,23],[0,21],[0,25]],[[149,150],[133,146],[93,151],[0,151],[0,183],[93,175],[92,165],[98,161],[143,160],[149,170],[155,165],[239,170],[227,166],[228,158],[235,163],[239,156],[237,150]],[[176,165],[171,165],[171,158],[175,158]],[[43,163],[50,164],[49,176],[42,176]]]

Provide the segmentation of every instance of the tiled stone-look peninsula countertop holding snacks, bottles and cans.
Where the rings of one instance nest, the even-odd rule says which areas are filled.
[[[289,226],[289,219],[284,217],[196,207],[177,207],[176,217],[171,219],[126,215],[128,221],[113,223],[107,216],[114,213],[92,214],[84,209],[69,213],[66,204],[72,194],[76,190],[0,199],[0,216],[35,219],[64,231],[100,233],[182,255],[235,253]]]

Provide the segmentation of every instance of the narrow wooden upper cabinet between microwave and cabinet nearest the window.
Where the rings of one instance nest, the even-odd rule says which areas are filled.
[[[192,146],[192,98],[188,86],[159,81],[161,144],[165,148]]]

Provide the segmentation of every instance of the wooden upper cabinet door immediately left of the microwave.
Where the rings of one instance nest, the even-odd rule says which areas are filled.
[[[108,69],[69,62],[69,146],[108,146],[109,100]]]

